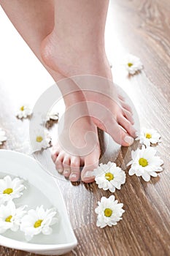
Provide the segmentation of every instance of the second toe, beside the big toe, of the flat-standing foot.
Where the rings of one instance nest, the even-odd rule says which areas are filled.
[[[78,181],[80,179],[80,157],[72,157],[70,181]]]

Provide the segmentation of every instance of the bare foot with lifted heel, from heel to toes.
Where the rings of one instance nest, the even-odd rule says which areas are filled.
[[[134,143],[136,130],[131,108],[117,95],[103,47],[93,43],[89,46],[88,41],[77,45],[75,39],[61,40],[52,32],[42,42],[42,59],[48,67],[66,77],[78,75],[72,79],[83,91],[97,127],[108,132],[120,145]]]

